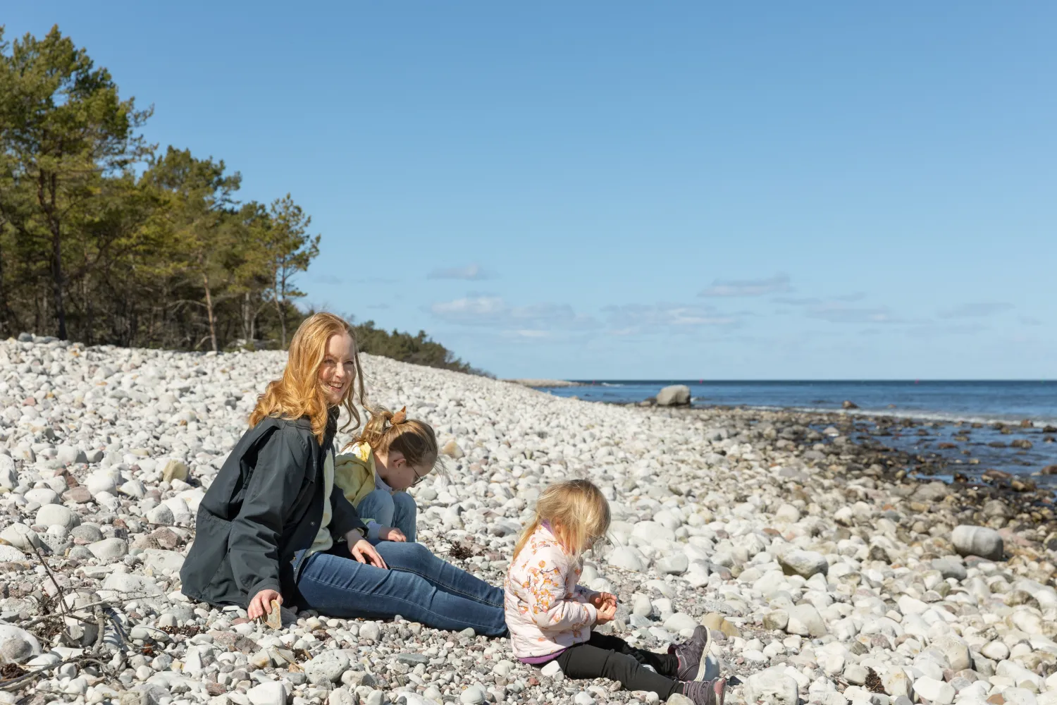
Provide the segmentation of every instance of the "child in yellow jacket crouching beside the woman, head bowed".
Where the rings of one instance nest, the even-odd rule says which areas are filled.
[[[367,523],[370,541],[414,541],[418,506],[405,491],[437,464],[429,424],[377,409],[364,432],[334,459],[334,484]]]

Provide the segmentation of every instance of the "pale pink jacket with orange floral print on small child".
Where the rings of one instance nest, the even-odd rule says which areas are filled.
[[[576,585],[581,565],[540,526],[506,571],[506,626],[518,658],[543,656],[591,638],[596,593]]]

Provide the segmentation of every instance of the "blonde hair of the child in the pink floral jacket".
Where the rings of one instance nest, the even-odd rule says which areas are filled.
[[[551,485],[536,501],[536,516],[514,546],[515,558],[544,521],[551,524],[564,548],[579,558],[609,531],[609,502],[601,490],[588,480],[569,480]]]

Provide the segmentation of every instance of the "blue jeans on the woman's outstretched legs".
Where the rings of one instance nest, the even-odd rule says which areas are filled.
[[[506,633],[502,589],[441,560],[421,543],[383,541],[375,549],[388,571],[358,562],[345,543],[309,556],[297,579],[301,609],[366,619],[400,614],[434,629]]]

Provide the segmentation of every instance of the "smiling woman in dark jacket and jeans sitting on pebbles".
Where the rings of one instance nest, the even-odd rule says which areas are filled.
[[[271,614],[291,604],[335,617],[401,614],[438,629],[506,631],[502,591],[420,543],[374,546],[334,482],[334,435],[345,408],[364,404],[349,323],[317,313],[297,329],[282,377],[268,383],[249,429],[199,506],[183,593]]]

